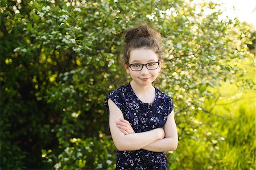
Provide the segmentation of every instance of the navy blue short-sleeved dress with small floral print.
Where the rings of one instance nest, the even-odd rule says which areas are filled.
[[[145,132],[163,127],[168,115],[174,108],[172,99],[155,88],[153,103],[143,103],[134,93],[130,83],[110,92],[105,98],[106,111],[109,114],[108,99],[119,107],[123,117],[130,122],[135,132]],[[164,152],[146,150],[117,151],[116,169],[167,169]]]

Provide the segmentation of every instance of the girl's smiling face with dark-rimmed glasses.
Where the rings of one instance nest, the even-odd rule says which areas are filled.
[[[159,61],[158,68],[156,69],[147,69],[152,67],[151,65],[154,65],[155,62],[158,62],[158,55],[152,50],[147,48],[137,48],[132,49],[130,51],[130,59],[129,64],[125,64],[125,69],[128,74],[130,74],[133,81],[136,82],[136,84],[140,86],[147,86],[151,85],[152,82],[158,77],[158,73],[160,72],[160,69],[162,67],[163,61]],[[153,63],[153,64],[148,64]],[[141,71],[133,71],[129,65],[131,64],[137,64],[135,67],[139,67],[138,64],[148,64],[143,65]],[[157,64],[157,63],[156,63]]]

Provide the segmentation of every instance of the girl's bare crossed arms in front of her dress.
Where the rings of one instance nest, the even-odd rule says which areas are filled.
[[[174,113],[168,116],[163,128],[135,133],[123,119],[122,111],[109,99],[109,127],[113,142],[119,151],[144,149],[153,152],[174,151],[177,148],[177,128]]]

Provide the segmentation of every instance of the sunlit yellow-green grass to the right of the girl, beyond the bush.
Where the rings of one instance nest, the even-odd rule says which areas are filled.
[[[248,62],[241,64],[247,69],[243,78],[255,82],[255,68]],[[230,82],[212,90],[217,102],[205,102],[210,113],[195,112],[202,123],[167,154],[169,169],[255,169],[255,90],[242,91]]]

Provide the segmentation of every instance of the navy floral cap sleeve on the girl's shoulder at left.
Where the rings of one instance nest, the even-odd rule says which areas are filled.
[[[104,105],[105,105],[106,112],[109,115],[108,99],[111,99],[115,103],[115,105],[117,105],[117,107],[122,111],[122,113],[124,113],[124,111],[125,111],[125,106],[124,106],[125,101],[122,97],[121,90],[118,90],[118,89],[114,90],[114,91],[109,93],[108,97],[105,98]]]

